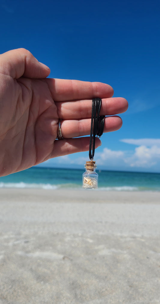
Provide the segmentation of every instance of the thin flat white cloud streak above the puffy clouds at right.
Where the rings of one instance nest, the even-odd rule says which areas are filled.
[[[126,138],[121,139],[123,143],[130,143],[132,145],[136,146],[146,146],[146,147],[152,147],[154,145],[160,147],[160,139],[159,138],[139,138],[139,139],[132,139],[132,138]]]

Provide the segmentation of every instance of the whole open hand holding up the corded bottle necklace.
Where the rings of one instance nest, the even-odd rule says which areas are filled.
[[[0,55],[0,176],[49,158],[89,150],[92,98],[102,98],[100,115],[125,112],[124,98],[99,82],[46,78],[48,67],[25,49]],[[63,140],[55,140],[62,119]],[[104,132],[118,130],[118,116],[106,117]],[[96,147],[100,140],[96,138]]]

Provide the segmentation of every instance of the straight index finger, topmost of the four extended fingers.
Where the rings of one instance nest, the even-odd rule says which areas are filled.
[[[109,98],[114,94],[110,85],[101,82],[46,78],[54,101],[71,101],[95,97]]]

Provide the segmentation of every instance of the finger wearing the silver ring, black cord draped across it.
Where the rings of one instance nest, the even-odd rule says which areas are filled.
[[[64,138],[72,138],[85,136],[90,134],[90,119],[78,120],[62,120],[61,132]],[[104,132],[112,132],[120,129],[122,126],[122,119],[119,116],[105,117]]]

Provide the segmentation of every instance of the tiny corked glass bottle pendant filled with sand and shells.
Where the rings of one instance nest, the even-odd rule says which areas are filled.
[[[84,165],[86,172],[82,176],[82,188],[97,189],[98,188],[98,174],[96,173],[96,162],[86,161]]]

